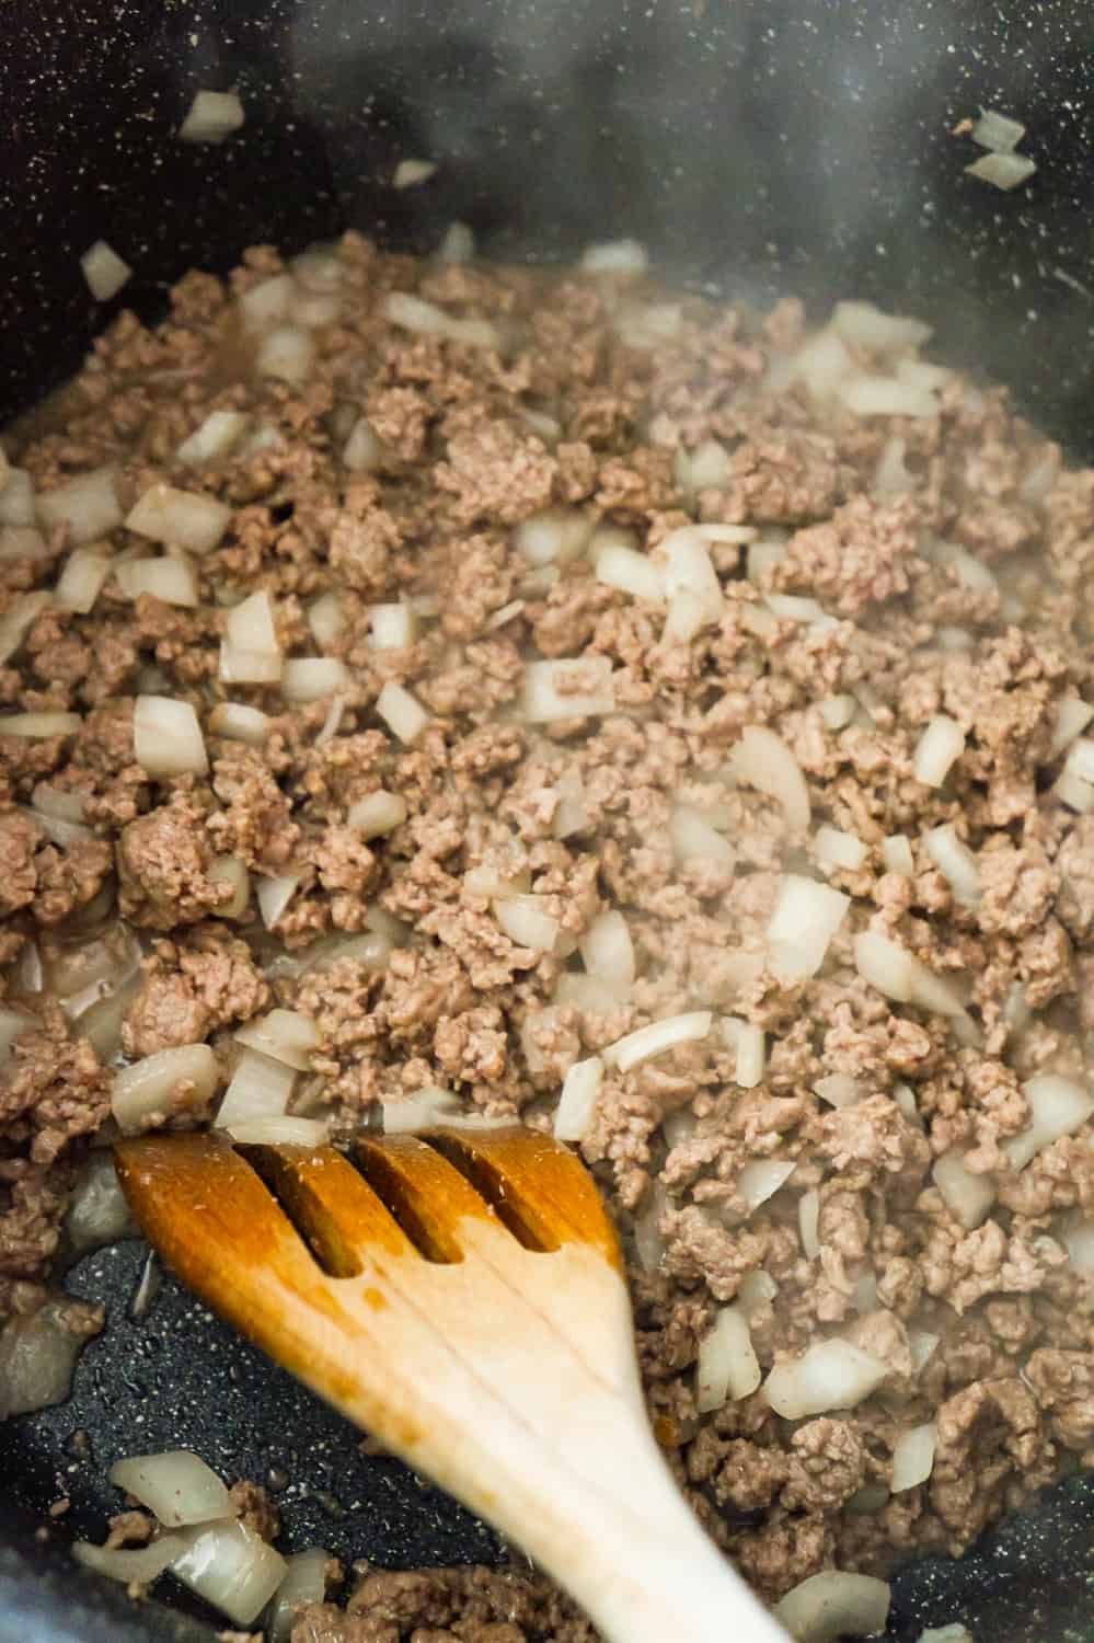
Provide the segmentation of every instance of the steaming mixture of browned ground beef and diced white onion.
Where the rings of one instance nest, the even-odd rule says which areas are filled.
[[[1094,1459],[1094,472],[925,340],[350,235],[5,440],[8,1411],[97,1328],[103,1127],[458,1116],[580,1147],[765,1599]],[[593,1636],[350,1608],[297,1643]]]

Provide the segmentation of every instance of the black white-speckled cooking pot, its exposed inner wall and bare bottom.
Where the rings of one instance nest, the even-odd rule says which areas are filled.
[[[125,304],[154,319],[187,268],[223,271],[256,242],[355,227],[427,251],[458,219],[494,258],[629,235],[703,291],[922,315],[936,357],[1009,383],[1094,458],[1094,13],[1074,0],[11,0],[5,25],[0,421],[120,306],[80,274],[99,238],[135,268]],[[174,136],[199,87],[241,95],[223,146]],[[977,151],[953,128],[981,107],[1028,127],[1038,169],[1014,192],[964,171]],[[407,156],[439,171],[394,192]],[[122,1454],[194,1447],[271,1484],[291,1548],[388,1567],[508,1556],[172,1280],[133,1316],[145,1262],[130,1240],[67,1273],[107,1329],[67,1405],[0,1428],[0,1643],[217,1628],[72,1566],[66,1541],[102,1538]],[[903,1569],[890,1636],[958,1618],[979,1643],[1094,1636],[1092,1554],[1094,1482],[1076,1474],[963,1561]]]

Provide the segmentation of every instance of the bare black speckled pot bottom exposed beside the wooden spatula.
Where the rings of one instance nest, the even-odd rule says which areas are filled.
[[[347,1569],[522,1561],[401,1461],[363,1452],[355,1428],[169,1273],[151,1308],[135,1319],[146,1259],[148,1245],[130,1239],[69,1272],[72,1295],[105,1306],[103,1332],[85,1349],[67,1403],[0,1424],[8,1508],[28,1528],[49,1525],[54,1551],[69,1538],[103,1538],[107,1518],[122,1508],[107,1482],[117,1459],[194,1449],[228,1482],[251,1479],[276,1495],[279,1544],[287,1551],[320,1544]],[[56,1512],[66,1500],[67,1508],[51,1518],[51,1507]],[[57,1610],[67,1605],[69,1582],[57,1582],[56,1558],[46,1548],[34,1546],[34,1554],[46,1558],[41,1602],[48,1617],[51,1602]],[[87,1577],[72,1569],[71,1579],[84,1584]],[[26,1643],[26,1617],[5,1604],[8,1581],[15,1592],[18,1571],[0,1564],[0,1643],[8,1627],[11,1638]],[[159,1584],[156,1599],[133,1612],[156,1643],[177,1628],[159,1600],[222,1628],[212,1610],[169,1581]],[[1046,1490],[964,1558],[926,1558],[895,1574],[890,1643],[915,1643],[925,1627],[956,1620],[976,1643],[1094,1638],[1094,1474]]]

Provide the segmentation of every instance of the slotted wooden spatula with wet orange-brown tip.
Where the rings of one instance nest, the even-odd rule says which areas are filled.
[[[527,1130],[333,1147],[149,1135],[118,1178],[164,1260],[517,1541],[611,1643],[785,1643],[649,1429],[614,1231]]]

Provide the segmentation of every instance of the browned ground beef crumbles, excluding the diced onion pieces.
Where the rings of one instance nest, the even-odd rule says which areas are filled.
[[[49,992],[118,915],[141,956],[120,1038],[99,1040],[107,1056],[209,1038],[223,1088],[233,1029],[274,1004],[299,1009],[322,1050],[297,1102],[314,1104],[322,1086],[337,1132],[425,1084],[549,1127],[575,1058],[655,1017],[713,1007],[767,1033],[762,1083],[741,1089],[711,1035],[626,1076],[609,1071],[581,1145],[627,1242],[659,1439],[701,1521],[767,1599],[826,1566],[877,1572],[894,1554],[959,1551],[1032,1489],[1094,1461],[1094,1285],[1063,1242],[1068,1217],[1092,1213],[1094,1129],[1022,1173],[1000,1152],[1028,1124],[1023,1079],[1087,1075],[1094,817],[1051,792],[1051,738],[1064,697],[1094,702],[1094,472],[1063,468],[1005,393],[958,376],[940,388],[941,412],[915,419],[851,417],[800,383],[772,386],[770,361],[803,337],[792,302],[759,322],[683,297],[677,332],[639,347],[619,335],[613,281],[417,261],[355,235],[337,255],[342,311],[312,332],[304,386],[250,370],[235,297],[281,269],[260,248],[227,284],[187,276],[156,330],[122,315],[62,414],[8,440],[38,493],[113,463],[123,511],[166,481],[217,496],[232,518],[220,545],[192,560],[197,608],[131,603],[107,580],[85,616],[46,605],[0,669],[0,711],[82,720],[69,736],[0,738],[3,1002],[36,1019],[0,1071],[3,1308],[26,1313],[46,1295],[74,1175],[108,1114],[112,1075],[84,1019]],[[496,322],[504,352],[393,325],[393,289]],[[626,301],[644,294],[664,301],[641,284]],[[245,411],[278,440],[189,467],[174,452],[210,409]],[[376,472],[342,462],[360,414],[383,442]],[[910,488],[879,493],[894,437]],[[677,455],[710,439],[728,450],[728,472],[685,491]],[[639,547],[696,518],[779,527],[787,547],[757,585],[744,549],[716,542],[724,616],[687,644],[662,642],[664,611],[595,580],[586,555],[552,575],[519,552],[514,524],[549,506],[624,526]],[[966,587],[930,550],[936,539],[989,565],[997,587]],[[0,560],[0,618],[20,593],[53,585],[69,545],[57,527],[44,557]],[[105,545],[149,552],[125,527]],[[350,685],[327,738],[329,702],[286,711],[276,687],[218,682],[225,605],[260,588],[296,656],[319,649],[307,606],[340,593],[329,654]],[[779,618],[756,631],[770,593],[811,596],[834,621]],[[419,637],[373,649],[368,606],[401,596],[425,600]],[[618,711],[522,723],[514,708],[532,651],[608,657]],[[375,711],[388,680],[430,715],[412,746]],[[205,777],[156,780],[135,762],[141,690],[195,706]],[[831,729],[818,703],[843,693],[854,716]],[[273,716],[264,746],[214,734],[210,711],[225,698]],[[925,787],[913,751],[940,713],[966,746],[946,784]],[[813,828],[826,822],[867,846],[861,868],[828,874],[851,910],[823,969],[790,987],[765,964],[764,930],[784,871],[821,874],[811,835],[790,833],[779,805],[724,779],[747,725],[793,749]],[[581,777],[588,825],[558,840],[563,769]],[[43,780],[82,797],[92,838],[51,843],[28,808]],[[347,813],[381,787],[407,818],[365,845]],[[678,800],[718,812],[731,864],[673,856]],[[954,900],[923,846],[945,822],[977,856],[976,907]],[[894,833],[912,841],[910,876],[884,869]],[[253,882],[301,877],[273,935],[253,895],[245,915],[223,917],[230,889],[210,869],[225,854]],[[465,884],[481,866],[526,876],[560,920],[563,950],[619,909],[637,955],[629,999],[557,1004],[577,961],[504,935]],[[327,951],[325,968],[309,968],[312,943],[360,932],[370,907],[406,925],[388,964]],[[963,983],[974,1042],[859,979],[851,943],[866,928]],[[34,953],[46,992],[28,991]],[[818,1098],[833,1073],[857,1081],[857,1104]],[[907,1096],[894,1099],[900,1086],[918,1119]],[[205,1116],[181,1091],[171,1122]],[[933,1158],[953,1147],[997,1181],[974,1231],[931,1185]],[[754,1158],[795,1168],[749,1216],[736,1181]],[[798,1204],[813,1188],[820,1255],[808,1260]],[[803,1423],[774,1416],[762,1390],[700,1416],[698,1344],[757,1268],[779,1286],[752,1308],[764,1374],[841,1334],[890,1365],[882,1388]],[[938,1346],[917,1369],[908,1337],[925,1332]],[[895,1436],[928,1420],[930,1482],[889,1495]],[[537,1577],[460,1569],[370,1574],[348,1615],[319,1605],[294,1638],[593,1633]]]

